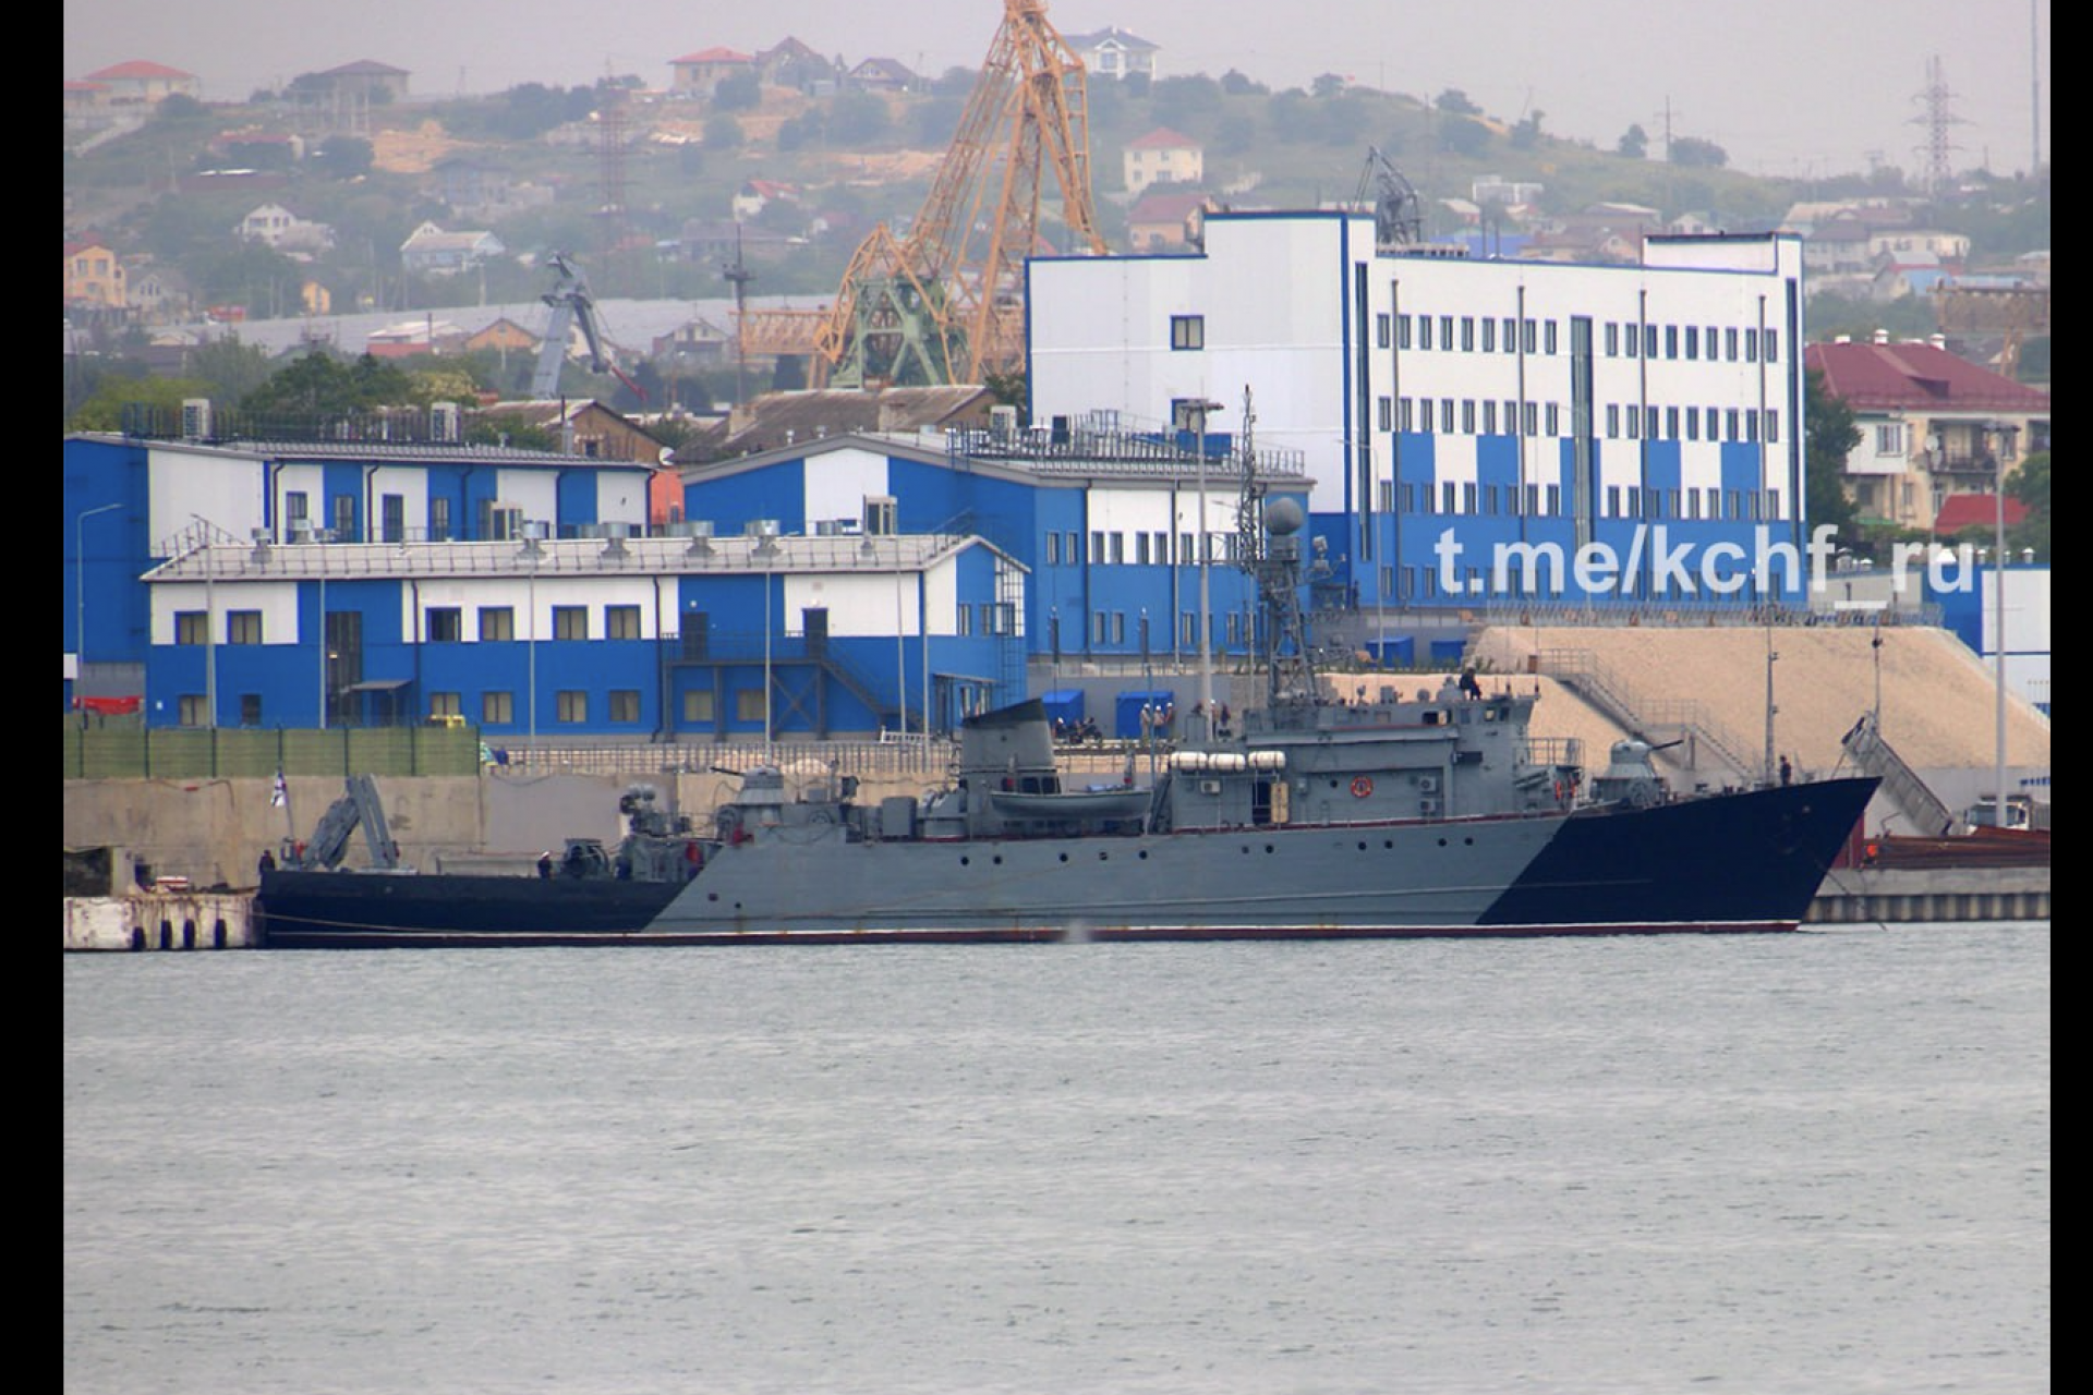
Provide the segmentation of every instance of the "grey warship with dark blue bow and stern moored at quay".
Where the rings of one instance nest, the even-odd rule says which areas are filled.
[[[615,845],[536,876],[262,872],[270,947],[996,943],[1794,931],[1877,780],[1674,791],[1651,747],[1586,772],[1538,690],[1450,676],[1333,699],[1300,506],[1245,504],[1264,699],[1116,782],[1063,774],[1038,699],[963,717],[923,795],[739,774],[705,820],[626,791]],[[1415,682],[1415,680],[1411,680]],[[345,801],[354,803],[354,801]],[[366,801],[370,803],[370,801]]]

